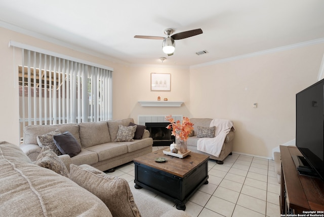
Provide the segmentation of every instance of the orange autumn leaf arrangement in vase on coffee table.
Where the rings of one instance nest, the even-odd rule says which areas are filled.
[[[191,130],[193,130],[193,123],[187,117],[183,117],[181,123],[179,120],[174,122],[172,116],[168,115],[166,116],[166,121],[171,123],[167,126],[167,129],[172,130],[171,135],[174,135],[177,139],[187,140]]]

